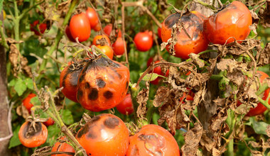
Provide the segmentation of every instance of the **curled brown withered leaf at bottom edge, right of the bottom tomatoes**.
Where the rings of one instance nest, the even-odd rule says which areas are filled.
[[[202,137],[202,130],[200,123],[194,123],[194,128],[184,134],[185,144],[181,147],[183,156],[196,155]]]

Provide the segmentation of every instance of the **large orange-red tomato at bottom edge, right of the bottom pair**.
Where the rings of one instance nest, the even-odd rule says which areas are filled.
[[[179,156],[180,151],[173,135],[157,125],[146,125],[129,138],[126,156]]]

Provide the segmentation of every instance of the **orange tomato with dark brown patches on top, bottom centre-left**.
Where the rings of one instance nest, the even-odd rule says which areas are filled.
[[[88,155],[126,155],[129,130],[120,118],[103,113],[95,116],[76,135]]]

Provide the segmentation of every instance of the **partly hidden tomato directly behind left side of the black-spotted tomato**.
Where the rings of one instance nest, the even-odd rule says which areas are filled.
[[[76,99],[77,81],[85,62],[72,63],[65,67],[60,74],[60,87],[62,93],[70,100],[78,102]]]

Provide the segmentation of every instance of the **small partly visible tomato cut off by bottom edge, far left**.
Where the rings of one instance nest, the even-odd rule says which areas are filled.
[[[74,148],[72,145],[65,143],[65,137],[61,138],[60,141],[56,142],[55,145],[53,145],[52,152],[73,152],[75,153]],[[67,154],[56,154],[51,156],[70,156]]]

